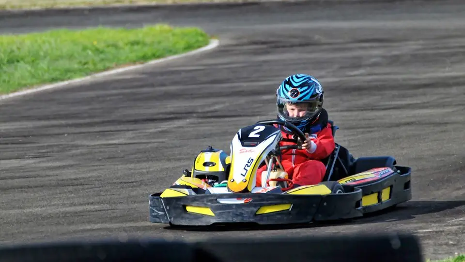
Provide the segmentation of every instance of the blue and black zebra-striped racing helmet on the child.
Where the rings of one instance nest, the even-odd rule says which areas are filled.
[[[278,118],[301,131],[318,119],[323,108],[323,88],[318,80],[306,74],[284,79],[276,90],[276,97]]]

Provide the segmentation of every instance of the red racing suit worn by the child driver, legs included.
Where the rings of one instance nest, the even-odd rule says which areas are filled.
[[[285,131],[281,133],[283,140],[293,139],[292,134]],[[307,149],[288,149],[282,152],[281,164],[294,184],[313,185],[321,182],[325,176],[326,167],[320,160],[328,157],[335,148],[331,124],[327,123],[321,131],[309,135],[312,142]],[[295,145],[295,143],[279,142],[279,146],[286,145]],[[263,171],[266,171],[266,164],[257,170],[257,186],[261,186]]]

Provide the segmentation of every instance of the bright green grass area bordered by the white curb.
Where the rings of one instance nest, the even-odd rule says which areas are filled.
[[[184,53],[209,41],[201,29],[164,24],[0,35],[0,94]]]

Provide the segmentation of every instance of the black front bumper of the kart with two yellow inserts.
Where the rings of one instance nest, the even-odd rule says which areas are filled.
[[[362,190],[331,195],[202,194],[150,199],[150,222],[179,226],[208,226],[222,223],[300,224],[314,220],[336,220],[362,216]],[[224,203],[228,199],[245,203]],[[223,200],[223,201],[222,201]],[[220,203],[223,202],[223,203]]]

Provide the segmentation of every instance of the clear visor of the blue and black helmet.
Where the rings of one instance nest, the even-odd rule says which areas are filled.
[[[315,99],[306,102],[294,102],[278,98],[278,114],[289,122],[298,122],[317,115],[321,109],[321,101]]]

